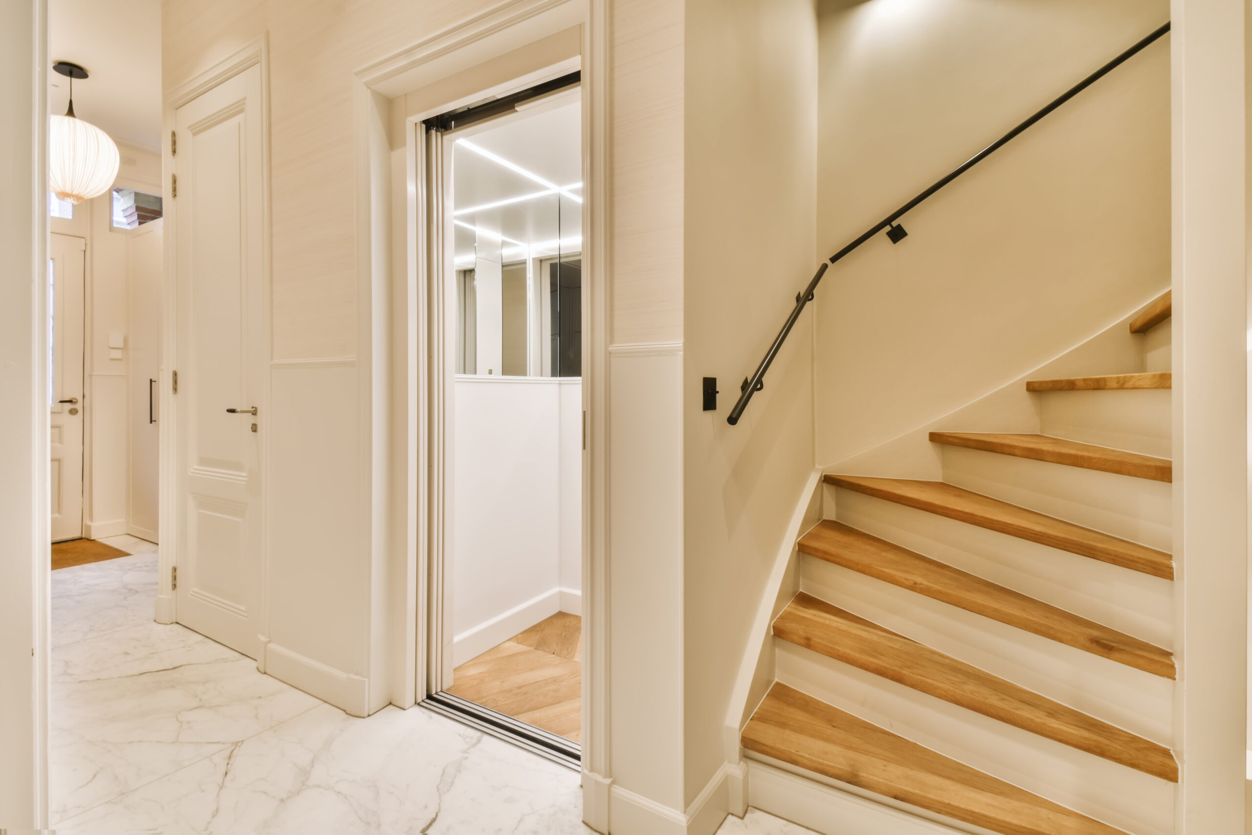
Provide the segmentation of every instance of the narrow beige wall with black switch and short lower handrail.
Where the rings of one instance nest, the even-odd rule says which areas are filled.
[[[722,720],[813,471],[813,315],[737,426],[726,414],[816,269],[811,0],[689,0],[684,172],[684,800],[724,761]],[[811,309],[811,308],[810,308]],[[716,377],[716,412],[701,378]]]

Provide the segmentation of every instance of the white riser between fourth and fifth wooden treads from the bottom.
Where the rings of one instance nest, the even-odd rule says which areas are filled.
[[[1166,482],[948,446],[943,479],[1158,551],[1173,548],[1173,489]]]

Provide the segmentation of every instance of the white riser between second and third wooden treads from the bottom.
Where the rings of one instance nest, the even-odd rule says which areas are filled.
[[[1173,681],[805,556],[801,591],[1132,734],[1169,745]]]

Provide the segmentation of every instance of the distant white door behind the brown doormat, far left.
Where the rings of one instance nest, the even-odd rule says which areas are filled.
[[[51,235],[51,452],[53,542],[83,536],[83,275],[86,240]]]

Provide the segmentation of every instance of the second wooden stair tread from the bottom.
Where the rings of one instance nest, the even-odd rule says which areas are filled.
[[[1178,781],[1163,745],[1032,692],[851,612],[800,592],[774,635],[829,658],[1106,760]]]

